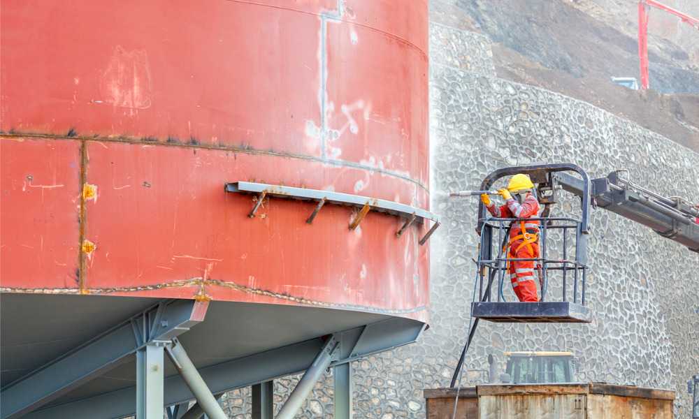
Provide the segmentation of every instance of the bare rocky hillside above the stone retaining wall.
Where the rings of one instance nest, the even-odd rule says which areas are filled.
[[[699,1],[666,0],[699,15]],[[699,152],[699,31],[651,10],[651,89],[639,78],[635,0],[431,0],[431,20],[489,36],[500,78],[578,98]],[[684,28],[686,27],[686,28]]]

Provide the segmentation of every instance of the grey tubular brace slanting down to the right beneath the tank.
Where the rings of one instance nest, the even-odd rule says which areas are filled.
[[[177,369],[180,376],[182,376],[182,381],[185,381],[185,384],[192,392],[192,395],[194,395],[197,404],[199,404],[204,413],[206,413],[206,416],[210,419],[228,419],[226,413],[224,413],[221,406],[219,406],[216,397],[212,395],[211,390],[206,386],[199,372],[196,371],[192,361],[189,360],[180,341],[178,341],[178,339],[173,339],[172,345],[167,346],[166,351],[168,357],[175,365],[175,369]]]

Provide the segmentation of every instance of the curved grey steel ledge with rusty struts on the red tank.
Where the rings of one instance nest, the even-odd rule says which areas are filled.
[[[312,214],[306,220],[306,223],[312,223],[315,216],[317,216],[320,209],[326,203],[343,205],[345,207],[356,207],[359,208],[359,213],[354,216],[352,222],[349,224],[349,230],[354,230],[359,226],[361,220],[366,216],[369,211],[384,212],[394,216],[400,216],[406,221],[403,223],[398,232],[396,232],[396,237],[401,237],[405,230],[417,221],[418,223],[424,224],[425,220],[433,221],[433,225],[430,230],[420,239],[420,244],[425,244],[430,238],[432,233],[439,227],[439,217],[426,210],[421,210],[417,207],[411,207],[410,205],[405,205],[401,203],[395,203],[389,200],[382,200],[377,198],[368,198],[366,196],[352,195],[350,193],[339,193],[331,191],[321,191],[319,189],[305,189],[305,188],[294,188],[291,186],[276,186],[268,184],[259,184],[252,182],[232,182],[227,183],[225,186],[226,192],[238,192],[238,193],[251,193],[257,195],[257,203],[255,203],[252,212],[248,214],[250,218],[255,216],[255,213],[259,209],[262,200],[268,196],[273,196],[277,198],[287,198],[295,200],[304,200],[317,202],[318,205]]]

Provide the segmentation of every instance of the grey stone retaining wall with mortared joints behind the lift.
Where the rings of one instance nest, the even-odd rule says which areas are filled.
[[[468,328],[478,237],[477,198],[449,199],[449,191],[476,189],[505,166],[570,162],[591,177],[626,169],[636,184],[696,202],[699,154],[589,103],[464,71],[432,47],[440,48],[431,50],[432,211],[445,228],[431,239],[432,327],[421,344],[452,367]],[[552,216],[578,214],[577,206],[566,199]],[[462,382],[487,379],[479,370],[488,353],[502,363],[503,351],[572,351],[582,360],[579,378],[675,390],[675,413],[686,415],[685,383],[699,371],[699,255],[604,210],[593,211],[591,224],[593,323],[481,323]]]

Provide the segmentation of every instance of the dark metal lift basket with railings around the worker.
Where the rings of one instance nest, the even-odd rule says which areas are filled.
[[[548,217],[549,205],[554,205],[559,191],[554,174],[572,171],[582,184],[582,219]],[[496,170],[481,185],[489,191],[502,177],[524,173],[536,186],[542,216],[528,219],[503,219],[490,216],[481,203],[477,233],[480,253],[477,264],[479,299],[473,303],[473,316],[500,323],[589,323],[591,310],[585,307],[587,271],[586,238],[590,212],[590,179],[586,172],[573,164],[520,166]],[[531,221],[540,224],[538,258],[517,259],[507,253],[509,228],[513,222]],[[507,265],[514,260],[532,260],[539,279],[539,302],[522,303],[505,297],[503,286],[510,286]],[[505,285],[503,285],[505,284]]]

